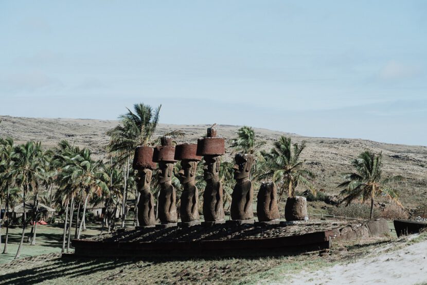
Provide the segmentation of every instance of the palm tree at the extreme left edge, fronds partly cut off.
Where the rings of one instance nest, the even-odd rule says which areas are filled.
[[[14,169],[14,145],[12,138],[0,139],[0,187],[6,188],[6,211],[5,216],[8,216],[6,224],[6,238],[5,238],[5,247],[3,250],[4,254],[8,253],[7,244],[9,238],[9,206],[10,206],[10,186],[13,180],[13,169]],[[1,223],[0,223],[1,226]],[[0,245],[1,245],[1,235],[0,235]]]

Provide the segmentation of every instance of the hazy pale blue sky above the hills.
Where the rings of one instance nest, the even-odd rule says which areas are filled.
[[[0,114],[427,146],[427,1],[2,1]]]

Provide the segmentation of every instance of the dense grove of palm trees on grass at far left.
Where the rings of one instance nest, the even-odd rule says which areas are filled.
[[[80,219],[77,215],[75,219],[75,237],[79,238],[85,223],[88,201],[95,196],[108,197],[110,194],[107,186],[110,177],[103,171],[103,166],[102,161],[91,158],[89,149],[80,150],[66,140],[62,140],[55,149],[43,150],[40,142],[27,141],[25,144],[15,145],[12,138],[0,139],[0,205],[5,202],[3,220],[8,218],[3,253],[8,253],[9,225],[13,222],[10,208],[13,209],[17,203],[23,203],[23,215],[22,235],[15,258],[20,257],[29,222],[31,231],[27,241],[31,245],[35,244],[40,201],[50,207],[58,206],[60,211],[65,208],[62,251],[64,252],[65,247],[66,229],[68,251],[75,205],[78,203],[79,208],[81,205],[83,209],[83,218]],[[28,206],[31,207],[30,217],[27,215]]]

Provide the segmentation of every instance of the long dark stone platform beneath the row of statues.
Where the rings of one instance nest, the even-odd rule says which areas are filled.
[[[388,233],[383,219],[359,222],[300,222],[291,225],[217,224],[212,226],[126,229],[73,240],[75,256],[217,257],[268,256],[329,248],[334,239],[351,240]]]

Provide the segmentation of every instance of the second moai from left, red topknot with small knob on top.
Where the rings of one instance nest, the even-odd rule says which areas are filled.
[[[159,227],[176,226],[176,194],[172,185],[173,165],[176,162],[175,147],[172,146],[171,137],[161,138],[162,146],[154,149],[153,161],[158,163],[158,218],[162,225]]]

